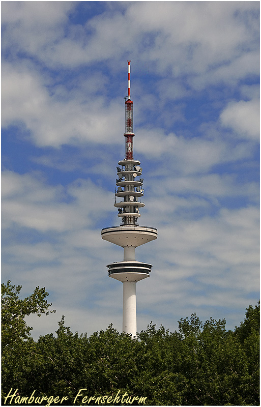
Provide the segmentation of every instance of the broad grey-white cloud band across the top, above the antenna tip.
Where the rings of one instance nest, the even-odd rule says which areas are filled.
[[[115,61],[128,51],[132,59],[151,61],[159,74],[171,69],[174,77],[188,73],[201,76],[215,65],[229,66],[251,41],[251,48],[258,53],[258,6],[255,16],[253,3],[128,2],[113,13],[108,7],[108,11],[88,20],[84,29],[75,27],[77,35],[71,29],[64,38],[65,25],[61,24],[66,23],[70,9],[75,7],[73,3],[40,2],[34,7],[22,4],[16,6],[15,12],[14,6],[6,6],[2,18],[9,22],[5,37],[9,46],[36,54],[51,67]],[[126,25],[132,27],[128,35]],[[4,48],[8,46],[5,38]],[[248,69],[251,66],[248,64]],[[214,74],[214,81],[216,77]],[[233,77],[231,65],[224,79]]]

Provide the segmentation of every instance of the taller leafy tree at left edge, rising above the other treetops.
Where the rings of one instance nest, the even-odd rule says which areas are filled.
[[[26,388],[26,372],[30,373],[36,359],[36,344],[30,336],[32,327],[27,326],[24,317],[30,314],[48,315],[51,303],[45,288],[36,287],[34,293],[23,300],[19,298],[21,285],[2,283],[2,395],[9,386]]]

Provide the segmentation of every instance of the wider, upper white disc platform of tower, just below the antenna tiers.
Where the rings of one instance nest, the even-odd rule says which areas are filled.
[[[121,247],[138,247],[157,239],[158,231],[149,226],[111,226],[102,229],[101,236],[102,239]]]

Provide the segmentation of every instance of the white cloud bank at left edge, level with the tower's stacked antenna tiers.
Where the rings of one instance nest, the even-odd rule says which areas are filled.
[[[62,186],[46,186],[29,174],[5,171],[2,192],[3,228],[17,224],[41,232],[61,232],[91,227],[112,210],[107,207],[111,194],[91,180],[75,181],[66,190]],[[70,197],[72,202],[65,202],[64,197]]]

